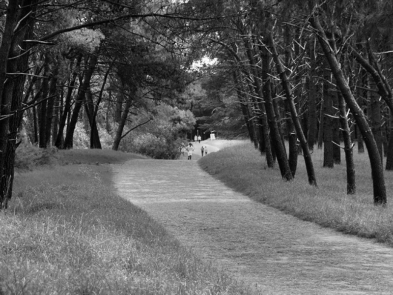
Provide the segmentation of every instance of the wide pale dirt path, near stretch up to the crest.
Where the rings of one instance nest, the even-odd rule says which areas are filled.
[[[198,151],[198,150],[197,150]],[[256,203],[196,159],[114,168],[119,193],[260,294],[393,294],[393,249]]]

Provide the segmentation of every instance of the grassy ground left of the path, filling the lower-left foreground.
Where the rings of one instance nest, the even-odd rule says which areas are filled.
[[[141,156],[28,149],[0,212],[1,295],[248,294],[115,194],[101,164]]]

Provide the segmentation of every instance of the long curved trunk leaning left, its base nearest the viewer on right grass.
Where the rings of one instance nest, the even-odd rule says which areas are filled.
[[[382,169],[382,163],[379,155],[379,150],[377,144],[375,143],[374,137],[372,136],[371,128],[368,126],[365,119],[365,115],[362,109],[357,104],[351,89],[349,88],[348,82],[344,77],[341,70],[340,63],[336,58],[336,53],[333,52],[332,48],[329,46],[329,40],[326,37],[325,31],[322,28],[319,20],[316,16],[310,18],[310,24],[317,30],[317,38],[319,44],[322,47],[325,58],[328,60],[330,68],[332,69],[333,75],[337,81],[337,88],[340,89],[345,102],[352,111],[352,114],[359,126],[359,129],[363,135],[365,145],[368,152],[368,157],[370,159],[371,166],[371,177],[373,182],[373,199],[375,205],[386,205],[386,186],[385,178]]]

